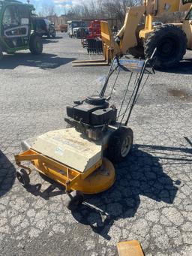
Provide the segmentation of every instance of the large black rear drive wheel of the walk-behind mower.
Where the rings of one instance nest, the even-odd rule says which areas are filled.
[[[130,128],[121,126],[110,135],[107,158],[113,163],[124,160],[133,146],[133,131]]]

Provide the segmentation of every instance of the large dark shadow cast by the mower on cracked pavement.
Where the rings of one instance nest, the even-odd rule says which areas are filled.
[[[172,152],[175,154],[172,155]],[[102,194],[88,196],[86,203],[72,212],[74,218],[92,227],[105,239],[110,239],[108,233],[114,221],[136,214],[140,195],[157,202],[173,203],[181,182],[173,181],[163,173],[159,163],[162,158],[170,161],[169,164],[186,164],[192,161],[191,149],[134,145],[127,161],[115,166],[116,181],[113,187]]]

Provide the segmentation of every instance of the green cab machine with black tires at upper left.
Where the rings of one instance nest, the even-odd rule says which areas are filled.
[[[32,23],[33,5],[16,0],[0,0],[0,59],[5,53],[30,50],[32,54],[43,51],[41,38],[35,34]]]

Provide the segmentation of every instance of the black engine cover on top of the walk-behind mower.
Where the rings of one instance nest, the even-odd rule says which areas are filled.
[[[117,110],[109,107],[106,98],[92,96],[74,106],[67,107],[67,115],[86,125],[105,125],[116,121]]]

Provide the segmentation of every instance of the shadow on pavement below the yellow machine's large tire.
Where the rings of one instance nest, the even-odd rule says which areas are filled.
[[[173,74],[192,74],[192,59],[184,59],[175,68],[159,69],[158,71]]]

